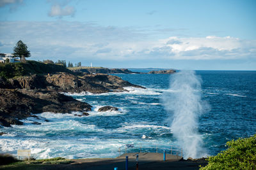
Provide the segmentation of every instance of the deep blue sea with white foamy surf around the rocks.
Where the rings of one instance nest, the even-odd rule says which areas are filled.
[[[79,112],[41,113],[37,114],[39,119],[22,120],[24,125],[1,127],[1,132],[7,133],[0,136],[1,152],[15,155],[19,149],[30,149],[37,159],[79,159],[117,157],[118,147],[132,143],[179,146],[163,101],[172,76],[115,75],[147,89],[126,87],[129,92],[67,94],[91,104],[90,116],[77,117]],[[205,153],[216,155],[225,150],[227,141],[255,134],[256,71],[196,71],[196,76],[202,80],[200,97],[211,106],[198,116],[196,125]],[[106,105],[119,110],[97,111]]]

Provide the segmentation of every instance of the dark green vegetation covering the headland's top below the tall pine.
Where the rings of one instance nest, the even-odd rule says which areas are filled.
[[[58,64],[44,64],[43,62],[36,62],[28,60],[26,63],[0,63],[0,76],[3,78],[13,78],[17,76],[26,76],[30,74],[47,74],[66,72],[70,73],[66,67]]]

